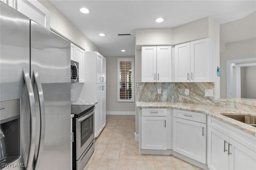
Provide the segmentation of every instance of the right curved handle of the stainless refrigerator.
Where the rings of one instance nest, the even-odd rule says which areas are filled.
[[[42,84],[40,81],[39,73],[37,70],[33,70],[33,76],[36,83],[38,101],[39,101],[39,109],[40,109],[40,136],[39,136],[39,144],[38,144],[38,152],[36,156],[36,162],[34,169],[37,169],[38,160],[40,160],[42,156],[42,151],[44,148],[44,135],[45,135],[45,109],[44,109],[44,94],[42,89]]]

